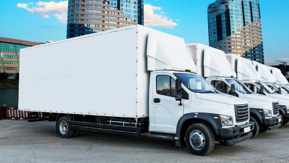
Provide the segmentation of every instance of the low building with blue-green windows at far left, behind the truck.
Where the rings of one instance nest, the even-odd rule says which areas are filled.
[[[0,76],[16,79],[19,74],[20,49],[41,44],[40,42],[0,38]]]

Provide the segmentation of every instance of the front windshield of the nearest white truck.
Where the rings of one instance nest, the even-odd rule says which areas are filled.
[[[177,78],[181,79],[181,83],[192,92],[217,93],[214,87],[209,82],[207,82],[203,77],[184,73],[174,73],[174,75]]]

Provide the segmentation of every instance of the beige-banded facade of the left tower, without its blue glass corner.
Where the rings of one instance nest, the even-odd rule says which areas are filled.
[[[106,0],[69,0],[67,38],[137,24]]]

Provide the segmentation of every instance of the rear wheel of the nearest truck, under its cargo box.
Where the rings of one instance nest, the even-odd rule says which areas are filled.
[[[64,116],[58,120],[57,131],[59,133],[59,136],[62,138],[72,137],[72,135],[74,134],[74,129],[70,128],[68,117]]]

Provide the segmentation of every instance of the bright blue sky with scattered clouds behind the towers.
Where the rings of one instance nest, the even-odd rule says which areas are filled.
[[[177,1],[177,2],[176,2]],[[145,0],[145,26],[209,45],[207,7],[215,0]],[[259,0],[266,65],[289,64],[289,0]],[[66,39],[66,0],[0,0],[0,37]]]

